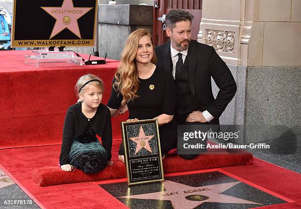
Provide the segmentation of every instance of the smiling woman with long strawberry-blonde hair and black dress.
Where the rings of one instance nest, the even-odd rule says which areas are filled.
[[[171,73],[158,68],[155,63],[150,32],[138,29],[131,33],[121,54],[107,106],[111,116],[120,104],[127,104],[129,120],[157,118],[164,157],[177,144],[177,124],[173,119],[176,87]],[[119,159],[124,163],[123,143]]]

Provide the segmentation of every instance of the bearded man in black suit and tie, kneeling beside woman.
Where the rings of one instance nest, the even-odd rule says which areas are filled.
[[[177,86],[178,124],[219,125],[219,117],[236,92],[235,80],[214,48],[191,40],[193,15],[170,10],[165,17],[170,41],[155,47],[157,65],[170,71]],[[211,76],[219,92],[214,99]],[[193,159],[197,155],[181,155]]]

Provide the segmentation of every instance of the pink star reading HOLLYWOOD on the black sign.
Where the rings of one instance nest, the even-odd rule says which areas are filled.
[[[59,34],[65,28],[82,38],[77,20],[92,9],[92,7],[74,7],[72,0],[64,0],[61,7],[41,8],[57,20],[50,38]]]

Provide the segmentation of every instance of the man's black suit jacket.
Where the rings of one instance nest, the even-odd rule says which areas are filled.
[[[155,47],[157,65],[171,72],[172,61],[170,41]],[[186,59],[188,59],[186,61]],[[218,56],[214,48],[191,40],[185,62],[188,62],[190,90],[200,110],[209,111],[218,119],[233,99],[236,83],[226,63]],[[211,88],[211,76],[219,88],[214,99]]]

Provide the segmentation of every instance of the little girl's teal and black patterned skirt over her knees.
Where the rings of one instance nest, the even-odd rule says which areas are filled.
[[[92,174],[105,168],[107,159],[107,152],[98,139],[89,143],[81,143],[73,139],[69,152],[72,166]]]

